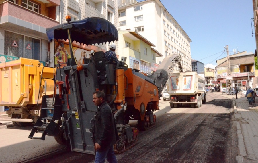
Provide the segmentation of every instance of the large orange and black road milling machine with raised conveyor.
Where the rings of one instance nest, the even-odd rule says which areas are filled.
[[[92,59],[77,65],[72,41],[86,45],[117,41],[115,26],[91,17],[47,28],[46,32],[49,41],[69,40],[71,58],[67,66],[57,66],[54,94],[42,97],[41,116],[29,138],[44,140],[46,135],[54,136],[71,151],[95,155],[93,125],[97,106],[92,100],[93,92],[101,90],[114,113],[119,135],[114,151],[122,153],[134,146],[139,130],[131,127],[129,120],[138,120],[141,130],[154,126],[153,112],[159,110],[159,94],[175,64],[180,64],[180,55],[166,57],[156,73],[148,75],[128,68],[124,57],[118,64],[107,61],[103,51],[94,52]],[[42,135],[35,137],[35,133]]]

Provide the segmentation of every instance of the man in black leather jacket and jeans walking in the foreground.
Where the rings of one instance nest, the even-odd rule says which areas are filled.
[[[105,101],[105,94],[102,91],[93,93],[93,103],[98,106],[95,116],[95,163],[108,162],[117,163],[113,145],[118,139],[116,124],[110,106]]]

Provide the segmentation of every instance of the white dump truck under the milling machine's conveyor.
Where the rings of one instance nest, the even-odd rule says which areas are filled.
[[[197,72],[172,73],[167,81],[167,92],[171,108],[182,104],[199,108],[206,103],[205,79]]]

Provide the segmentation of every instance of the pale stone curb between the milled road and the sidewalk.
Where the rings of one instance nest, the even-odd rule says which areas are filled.
[[[233,100],[233,105],[234,105],[235,118],[242,118],[241,114],[237,113],[235,100]],[[239,154],[238,156],[236,156],[236,163],[243,163],[244,162],[243,156],[247,156],[247,153],[245,150],[244,139],[243,139],[241,126],[239,122],[236,122],[236,137],[237,137],[237,146],[238,146],[238,154]]]

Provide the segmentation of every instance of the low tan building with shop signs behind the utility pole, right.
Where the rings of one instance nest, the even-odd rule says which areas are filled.
[[[220,87],[226,89],[227,80],[231,80],[234,86],[244,87],[253,86],[255,77],[254,54],[241,52],[229,56],[229,65],[227,57],[221,58],[216,61],[217,81]],[[230,66],[230,76],[228,73],[228,66]]]

